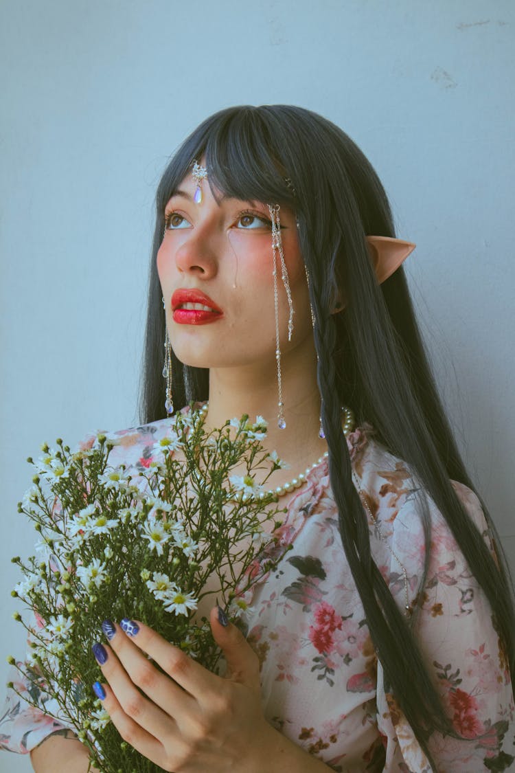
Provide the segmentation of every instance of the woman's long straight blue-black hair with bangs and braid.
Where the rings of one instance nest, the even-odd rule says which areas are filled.
[[[475,491],[439,399],[405,273],[400,267],[381,285],[375,278],[365,237],[395,237],[385,190],[368,159],[340,128],[300,107],[231,107],[193,131],[171,159],[156,198],[141,386],[145,422],[165,416],[164,312],[156,268],[164,207],[195,158],[205,158],[209,184],[226,195],[279,203],[296,212],[317,320],[317,379],[341,540],[384,669],[385,688],[394,694],[429,754],[427,739],[433,730],[455,733],[413,635],[416,614],[408,619],[399,610],[371,556],[368,519],[352,482],[341,432],[342,405],[353,408],[358,424],[373,425],[378,441],[410,466],[442,512],[490,601],[512,683],[515,611],[502,549],[498,545],[497,560],[492,557],[450,482],[462,482]],[[341,290],[346,308],[330,314]],[[176,410],[190,400],[207,400],[208,369],[184,366],[173,354],[172,358]],[[496,536],[478,497],[490,536]],[[430,517],[425,495],[421,517],[427,571]]]

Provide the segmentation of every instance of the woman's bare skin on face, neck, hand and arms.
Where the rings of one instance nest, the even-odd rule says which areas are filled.
[[[219,427],[227,418],[244,413],[251,419],[261,415],[269,422],[264,445],[269,451],[276,450],[290,468],[274,472],[267,486],[282,485],[327,450],[326,442],[318,437],[317,356],[295,215],[289,209],[280,209],[295,310],[293,338],[288,342],[288,304],[279,266],[286,418],[286,429],[280,430],[276,421],[276,332],[268,207],[266,203],[221,199],[218,194],[215,199],[207,180],[202,184],[203,201],[196,204],[195,189],[196,182],[188,175],[181,182],[181,193],[168,202],[167,227],[158,251],[171,345],[181,362],[209,368],[208,428]],[[209,325],[174,322],[171,296],[178,288],[201,289],[222,308],[222,316]],[[285,505],[290,497],[283,498]],[[266,721],[260,702],[259,661],[239,629],[220,625],[216,608],[211,611],[210,621],[229,666],[224,678],[208,672],[141,623],[133,638],[117,626],[110,645],[105,645],[108,657],[102,673],[107,693],[103,706],[120,735],[161,768],[175,773],[327,770],[324,763]],[[145,653],[168,676],[151,666]],[[70,744],[76,741],[56,737],[48,743],[53,743],[48,765],[42,757],[46,744],[32,753],[36,771],[55,770],[57,759],[69,762],[74,754],[74,764],[79,767],[73,769],[87,770],[85,750],[70,752]]]

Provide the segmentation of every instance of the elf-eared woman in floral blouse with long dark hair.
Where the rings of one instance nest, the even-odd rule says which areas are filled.
[[[273,483],[293,540],[248,599],[247,640],[211,611],[225,679],[137,621],[104,621],[97,694],[165,770],[513,767],[513,601],[415,322],[411,250],[364,155],[299,107],[221,111],[164,172],[146,424],[114,435],[117,454],[143,464],[190,400],[208,427],[261,415],[290,465]],[[13,751],[46,737],[36,771],[86,771],[69,731],[17,721],[25,748],[2,726]]]

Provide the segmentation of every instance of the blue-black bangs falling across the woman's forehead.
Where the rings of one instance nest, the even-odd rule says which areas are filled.
[[[181,145],[164,172],[158,189],[159,213],[191,173],[193,162],[204,159],[215,199],[230,196],[242,201],[278,203],[295,209],[291,171],[281,157],[285,129],[267,120],[266,107],[235,107],[208,118]],[[288,181],[288,182],[287,182]]]

